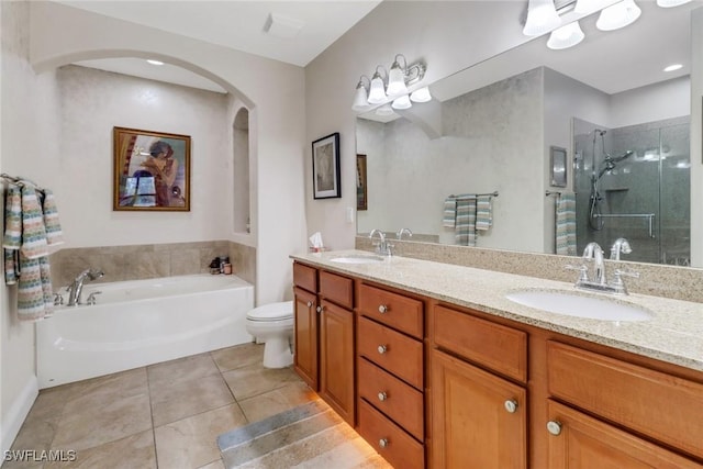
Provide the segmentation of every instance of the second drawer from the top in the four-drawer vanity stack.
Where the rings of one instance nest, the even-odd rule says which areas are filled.
[[[415,388],[423,389],[423,345],[390,327],[359,317],[358,354]]]

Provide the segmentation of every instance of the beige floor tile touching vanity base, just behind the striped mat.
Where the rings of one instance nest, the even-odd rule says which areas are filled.
[[[315,399],[319,399],[317,394],[308,384],[290,382],[274,391],[243,399],[239,401],[239,406],[249,422],[258,422]]]

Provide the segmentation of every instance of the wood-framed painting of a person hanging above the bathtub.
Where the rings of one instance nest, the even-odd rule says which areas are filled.
[[[112,210],[190,211],[190,136],[113,129]]]

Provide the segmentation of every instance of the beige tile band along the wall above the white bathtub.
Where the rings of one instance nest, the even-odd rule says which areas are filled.
[[[51,256],[52,283],[68,286],[87,268],[102,269],[105,282],[205,273],[216,256],[230,256],[234,273],[255,283],[256,248],[228,241],[62,249]]]

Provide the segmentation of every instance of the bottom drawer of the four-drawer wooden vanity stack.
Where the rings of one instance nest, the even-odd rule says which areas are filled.
[[[394,468],[425,467],[423,445],[366,401],[359,401],[359,434]]]

